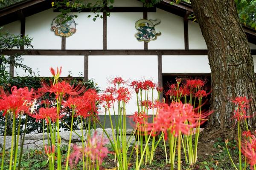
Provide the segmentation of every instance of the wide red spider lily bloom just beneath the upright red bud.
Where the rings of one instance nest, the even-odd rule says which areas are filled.
[[[44,92],[49,92],[54,93],[56,95],[56,98],[58,98],[59,95],[62,95],[63,97],[68,94],[68,95],[79,95],[82,92],[84,92],[84,86],[76,86],[70,85],[69,83],[65,81],[61,81],[60,83],[56,83],[54,85],[47,85],[46,83],[42,83],[42,86],[44,88]]]

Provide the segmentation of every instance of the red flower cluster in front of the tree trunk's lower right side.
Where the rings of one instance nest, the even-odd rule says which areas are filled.
[[[236,97],[232,102],[236,104],[233,118],[240,121],[252,117],[246,115],[246,110],[249,108],[249,100],[246,97]]]

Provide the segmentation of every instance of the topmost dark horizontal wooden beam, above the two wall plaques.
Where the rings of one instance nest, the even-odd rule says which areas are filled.
[[[100,9],[99,9],[100,10]],[[109,7],[105,7],[102,11],[99,12],[156,12],[156,7],[113,7],[110,9]],[[54,9],[53,12],[60,12],[60,9]],[[78,12],[78,10],[73,9],[72,12]],[[92,12],[91,9],[82,9],[79,12]]]

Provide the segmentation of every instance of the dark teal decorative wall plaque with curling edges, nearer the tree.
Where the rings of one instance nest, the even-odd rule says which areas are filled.
[[[161,35],[161,32],[155,31],[155,26],[160,24],[160,20],[138,20],[135,23],[135,28],[137,29],[137,33],[135,34],[135,37],[138,41],[145,41],[149,42],[151,40],[156,40],[157,36]]]

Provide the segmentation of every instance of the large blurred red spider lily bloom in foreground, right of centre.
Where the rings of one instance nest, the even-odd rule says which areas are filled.
[[[187,121],[190,124],[187,124]],[[190,128],[195,127],[197,124],[197,115],[190,104],[172,102],[169,107],[159,109],[154,123],[148,125],[149,129],[152,129],[154,132],[170,131],[177,137],[179,132],[188,135]]]

